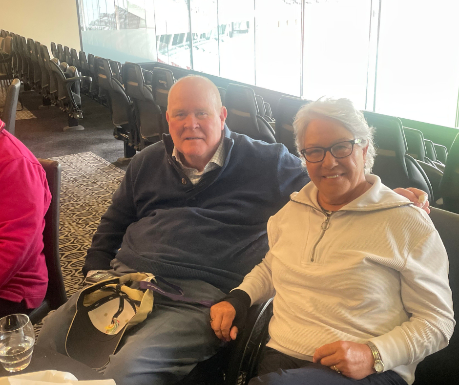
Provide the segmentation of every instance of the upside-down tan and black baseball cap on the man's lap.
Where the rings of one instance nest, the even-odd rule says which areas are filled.
[[[153,292],[139,282],[145,273],[107,279],[82,290],[65,340],[67,355],[100,369],[108,363],[126,329],[144,321],[153,308]]]

